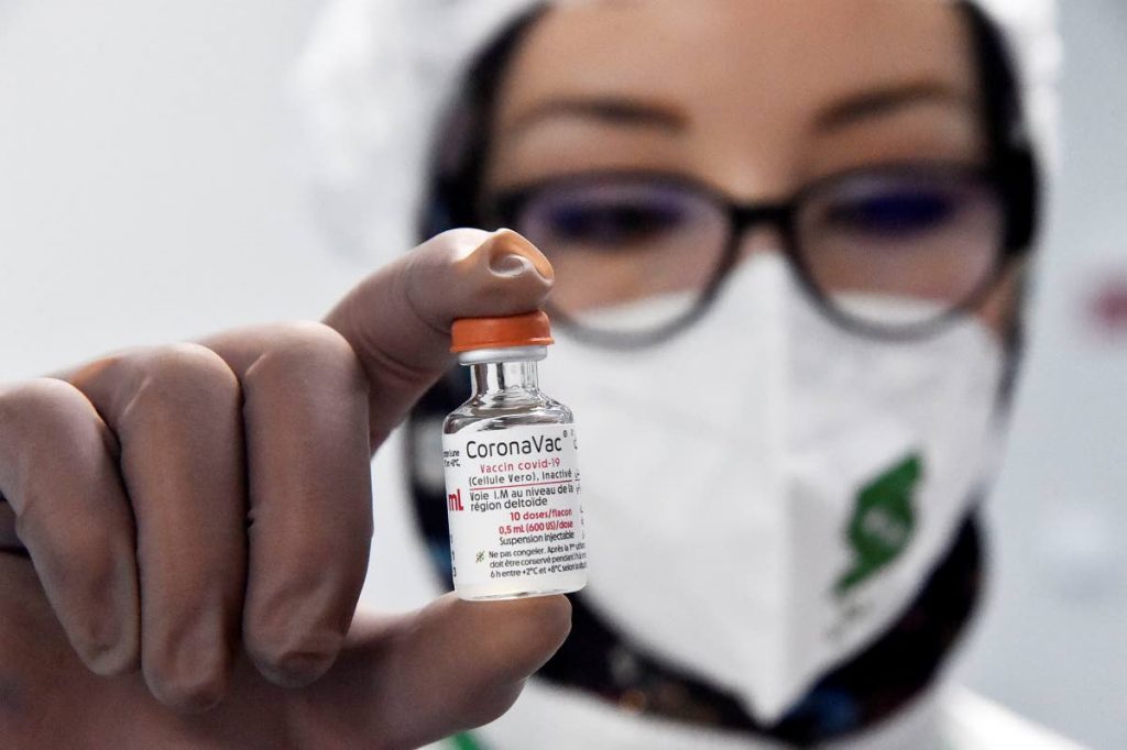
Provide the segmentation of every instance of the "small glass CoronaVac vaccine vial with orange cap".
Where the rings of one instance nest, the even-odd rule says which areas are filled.
[[[442,436],[462,599],[567,593],[587,582],[575,420],[536,380],[551,343],[543,312],[454,322],[451,351],[472,376]]]

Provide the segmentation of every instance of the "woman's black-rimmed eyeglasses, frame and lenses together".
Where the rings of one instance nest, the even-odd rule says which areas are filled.
[[[1001,278],[1014,251],[999,185],[990,169],[905,163],[835,175],[784,203],[742,205],[666,173],[607,172],[509,190],[492,205],[497,222],[556,268],[554,319],[597,343],[646,346],[691,325],[757,227],[778,232],[833,320],[902,339],[976,307]]]

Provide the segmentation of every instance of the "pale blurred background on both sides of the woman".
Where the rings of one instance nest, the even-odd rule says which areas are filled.
[[[0,0],[0,380],[316,318],[358,278],[313,225],[289,104],[320,5]],[[1062,5],[1065,169],[991,505],[992,600],[958,673],[1110,749],[1127,747],[1127,5]]]

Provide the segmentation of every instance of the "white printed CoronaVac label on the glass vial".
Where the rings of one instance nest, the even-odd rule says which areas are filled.
[[[587,552],[573,425],[443,436],[454,586],[482,598],[571,591]]]

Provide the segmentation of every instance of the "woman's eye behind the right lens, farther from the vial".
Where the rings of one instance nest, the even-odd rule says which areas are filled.
[[[955,220],[957,195],[933,188],[894,188],[840,197],[825,208],[827,229],[875,239],[905,239],[942,229]]]

